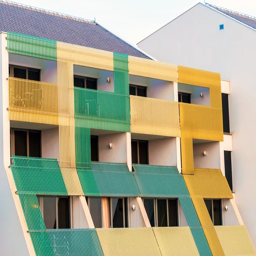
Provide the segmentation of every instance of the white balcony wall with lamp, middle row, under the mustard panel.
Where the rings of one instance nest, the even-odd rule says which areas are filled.
[[[206,156],[204,156],[206,151]],[[194,167],[221,169],[220,143],[193,144]]]

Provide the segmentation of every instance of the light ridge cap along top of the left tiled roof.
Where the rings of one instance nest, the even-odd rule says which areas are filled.
[[[88,20],[88,19],[84,19],[81,17],[76,17],[76,16],[72,16],[72,15],[68,15],[68,14],[64,14],[64,13],[59,13],[59,12],[54,12],[54,11],[50,11],[50,10],[46,10],[46,9],[41,9],[35,6],[27,6],[21,3],[15,3],[12,1],[8,1],[8,0],[0,0],[0,3],[3,4],[7,4],[7,5],[11,5],[11,6],[17,6],[20,8],[24,8],[24,9],[29,9],[31,11],[35,11],[35,12],[43,12],[49,15],[54,15],[54,16],[58,16],[58,17],[63,17],[66,19],[70,19],[70,20],[77,20],[77,21],[81,21],[81,22],[85,22],[85,23],[90,23],[90,24],[94,24],[96,25],[96,21],[95,20]]]

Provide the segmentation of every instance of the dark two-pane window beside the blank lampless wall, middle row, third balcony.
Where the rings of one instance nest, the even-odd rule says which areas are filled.
[[[131,161],[132,163],[148,164],[148,141],[131,141]]]

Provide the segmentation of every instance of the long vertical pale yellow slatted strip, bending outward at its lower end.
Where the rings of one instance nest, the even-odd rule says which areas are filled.
[[[73,63],[58,61],[61,173],[69,195],[84,195],[76,172]]]

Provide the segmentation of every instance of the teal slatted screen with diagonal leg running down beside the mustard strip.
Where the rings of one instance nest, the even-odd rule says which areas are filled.
[[[179,198],[200,256],[212,256],[204,232],[192,231],[194,228],[201,229],[201,223],[183,176],[179,174],[177,167],[144,164],[133,164],[133,167],[142,197]]]

